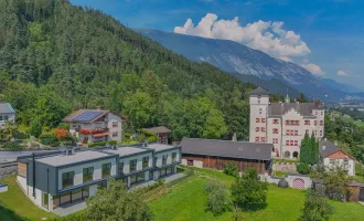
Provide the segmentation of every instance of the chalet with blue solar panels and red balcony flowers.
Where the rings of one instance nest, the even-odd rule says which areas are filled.
[[[104,109],[78,109],[66,116],[69,133],[83,144],[95,141],[121,141],[121,117]]]

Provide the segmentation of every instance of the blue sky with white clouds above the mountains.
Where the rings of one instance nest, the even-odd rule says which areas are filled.
[[[71,0],[130,28],[236,41],[364,88],[364,0]]]

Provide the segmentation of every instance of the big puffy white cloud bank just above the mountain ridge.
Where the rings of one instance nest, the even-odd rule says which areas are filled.
[[[244,27],[237,17],[233,20],[217,20],[216,14],[207,13],[197,25],[188,19],[183,27],[175,27],[174,32],[232,40],[276,57],[303,56],[311,52],[299,34],[282,27],[283,22],[261,20]]]

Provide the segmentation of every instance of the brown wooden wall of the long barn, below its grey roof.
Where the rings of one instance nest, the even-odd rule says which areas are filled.
[[[193,166],[194,161],[201,161],[204,168],[217,170],[223,170],[226,164],[233,162],[238,167],[240,172],[245,171],[247,168],[255,168],[258,173],[265,173],[270,165],[270,161],[267,160],[215,157],[191,154],[182,154],[182,159],[186,160],[188,166]]]

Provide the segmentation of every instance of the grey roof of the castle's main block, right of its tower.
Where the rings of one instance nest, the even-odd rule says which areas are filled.
[[[268,116],[280,116],[292,108],[302,116],[313,116],[312,109],[322,109],[314,103],[272,103],[268,106]]]

